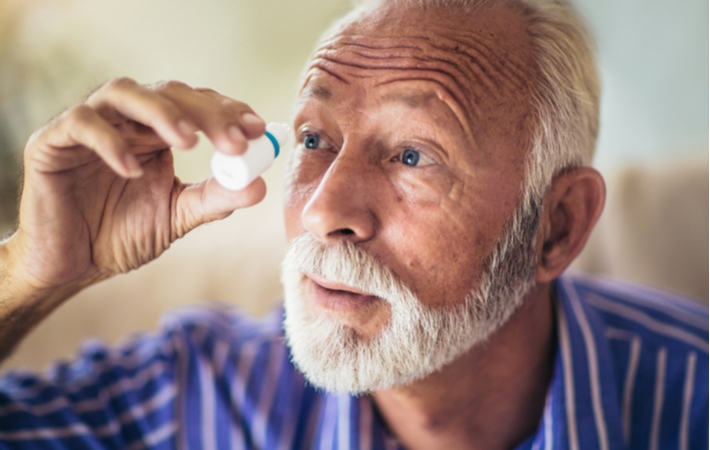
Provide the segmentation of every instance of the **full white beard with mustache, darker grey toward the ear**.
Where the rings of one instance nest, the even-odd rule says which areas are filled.
[[[293,239],[281,280],[294,364],[314,386],[352,394],[406,385],[440,370],[485,341],[522,304],[533,285],[538,216],[536,205],[516,212],[478,286],[449,308],[423,306],[391,269],[349,241],[324,244],[310,233]],[[385,300],[388,324],[363,339],[339,320],[308,311],[305,274]]]

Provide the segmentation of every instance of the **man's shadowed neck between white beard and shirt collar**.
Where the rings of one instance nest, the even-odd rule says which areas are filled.
[[[536,285],[485,343],[413,384],[373,394],[399,441],[417,449],[508,449],[537,429],[552,378],[549,284]]]

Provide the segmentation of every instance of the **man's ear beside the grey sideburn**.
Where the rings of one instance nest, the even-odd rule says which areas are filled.
[[[571,169],[553,180],[538,234],[538,282],[560,276],[582,251],[605,198],[604,179],[591,167]]]

